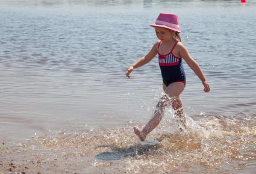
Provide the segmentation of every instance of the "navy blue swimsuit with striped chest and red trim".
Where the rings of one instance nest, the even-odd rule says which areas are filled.
[[[166,85],[166,87],[173,82],[183,82],[184,85],[186,85],[186,75],[182,64],[182,58],[176,57],[172,54],[172,51],[177,43],[178,42],[176,42],[172,50],[165,55],[159,53],[159,46],[161,42],[158,45],[157,52],[159,66],[161,69],[163,83]]]

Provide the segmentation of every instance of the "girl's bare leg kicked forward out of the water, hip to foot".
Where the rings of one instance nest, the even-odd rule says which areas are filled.
[[[160,101],[157,104],[157,108],[155,109],[154,116],[151,120],[146,124],[146,126],[140,132],[139,129],[134,128],[134,133],[140,138],[141,141],[144,141],[146,135],[149,134],[157,125],[160,123],[163,113],[166,107],[169,105],[181,108],[179,102],[176,99],[172,98],[180,98],[180,94],[183,92],[185,85],[182,82],[173,82],[168,87],[163,85],[165,94],[161,97]],[[168,95],[168,96],[167,96]],[[175,104],[173,104],[175,103]]]

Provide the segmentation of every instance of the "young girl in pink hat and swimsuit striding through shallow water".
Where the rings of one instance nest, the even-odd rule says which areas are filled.
[[[173,13],[160,13],[154,24],[150,25],[155,28],[155,33],[159,41],[155,43],[151,51],[145,57],[139,58],[131,67],[126,70],[125,75],[130,78],[130,73],[146,63],[149,63],[155,55],[158,55],[159,66],[163,78],[164,95],[154,112],[154,116],[147,125],[139,131],[134,129],[134,133],[144,141],[146,135],[149,134],[159,123],[163,117],[164,110],[172,106],[175,110],[178,119],[184,126],[187,127],[186,118],[183,114],[183,103],[181,101],[181,93],[186,85],[186,76],[183,69],[182,58],[186,61],[189,67],[201,79],[204,85],[204,92],[210,91],[210,86],[202,72],[198,63],[191,57],[187,48],[181,43],[181,30],[178,25],[178,16]],[[182,129],[181,129],[182,130]]]

